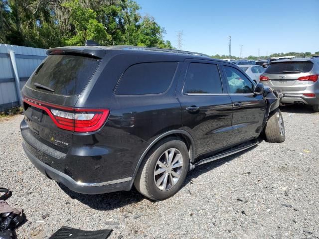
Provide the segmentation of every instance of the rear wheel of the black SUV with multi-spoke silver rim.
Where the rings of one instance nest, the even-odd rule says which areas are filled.
[[[188,164],[185,143],[174,137],[165,138],[145,156],[134,185],[141,194],[152,200],[167,199],[180,189]]]

